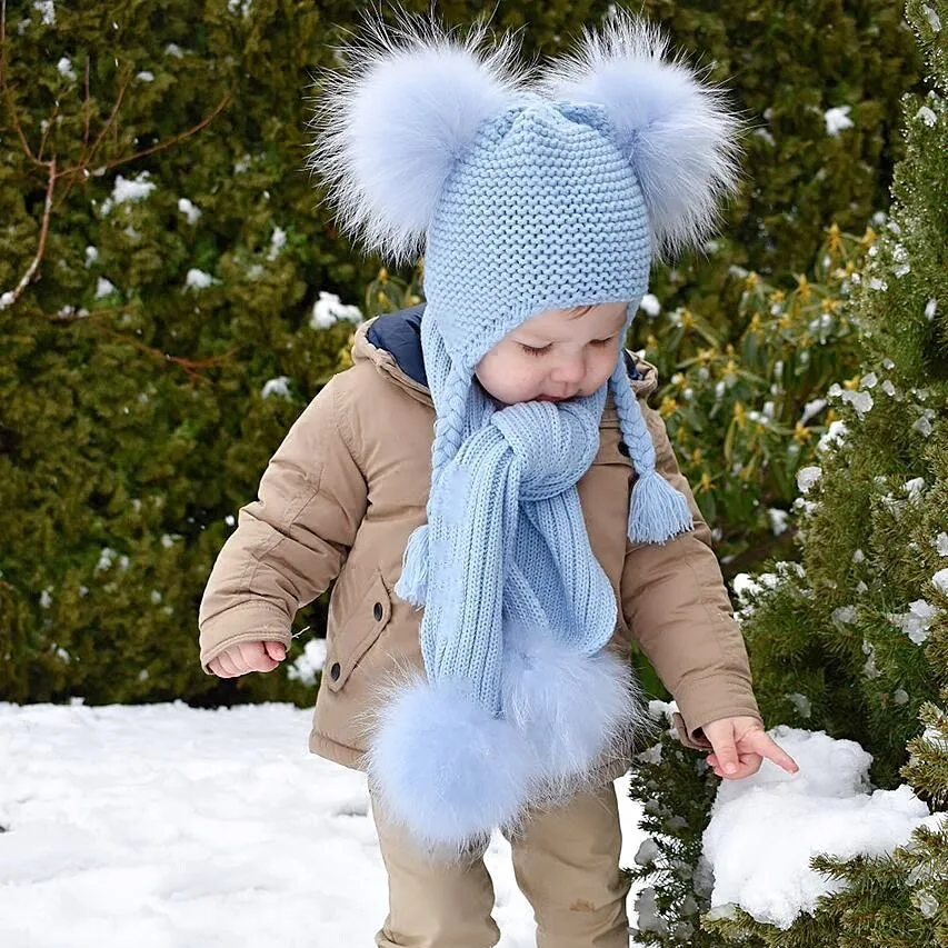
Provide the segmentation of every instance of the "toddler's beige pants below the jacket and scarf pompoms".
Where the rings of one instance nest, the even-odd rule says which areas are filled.
[[[373,812],[389,880],[389,916],[376,935],[378,948],[497,945],[483,849],[458,864],[435,862],[377,808]],[[517,885],[537,921],[537,948],[628,948],[629,882],[619,869],[621,831],[611,782],[531,816],[508,839]]]

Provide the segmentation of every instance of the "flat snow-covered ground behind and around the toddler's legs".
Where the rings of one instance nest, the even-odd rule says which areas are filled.
[[[369,948],[386,878],[365,779],[306,751],[309,720],[0,703],[0,945]],[[618,789],[629,866],[643,835]],[[500,837],[488,868],[500,948],[532,948]]]

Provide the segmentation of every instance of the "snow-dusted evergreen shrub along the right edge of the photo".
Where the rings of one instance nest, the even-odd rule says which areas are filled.
[[[911,0],[908,18],[934,88],[904,99],[906,156],[891,219],[849,279],[844,310],[858,329],[862,370],[830,387],[838,420],[818,466],[799,472],[799,563],[777,562],[739,588],[769,724],[859,740],[874,755],[877,786],[907,780],[936,814],[886,857],[815,859],[840,885],[788,929],[736,907],[705,914],[710,944],[948,942],[948,63],[936,28],[948,22],[948,3]],[[679,779],[680,769],[660,768],[652,779]],[[696,817],[695,806],[709,799],[705,788],[682,792],[690,796],[679,839],[703,826],[707,809]],[[687,869],[676,871],[672,895],[682,880]],[[659,904],[661,896],[659,888]],[[669,902],[662,917],[668,930],[676,909]]]

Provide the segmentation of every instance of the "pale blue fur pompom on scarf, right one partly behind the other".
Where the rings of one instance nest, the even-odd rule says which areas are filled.
[[[580,655],[542,629],[505,630],[502,688],[503,716],[542,768],[531,804],[582,789],[647,718],[628,661],[609,649]]]

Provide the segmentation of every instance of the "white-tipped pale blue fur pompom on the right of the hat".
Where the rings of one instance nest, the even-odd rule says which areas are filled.
[[[680,59],[662,59],[667,46],[658,28],[618,9],[549,62],[539,83],[546,96],[606,107],[639,179],[659,259],[700,246],[714,229],[719,199],[737,187],[742,128],[720,89]]]

